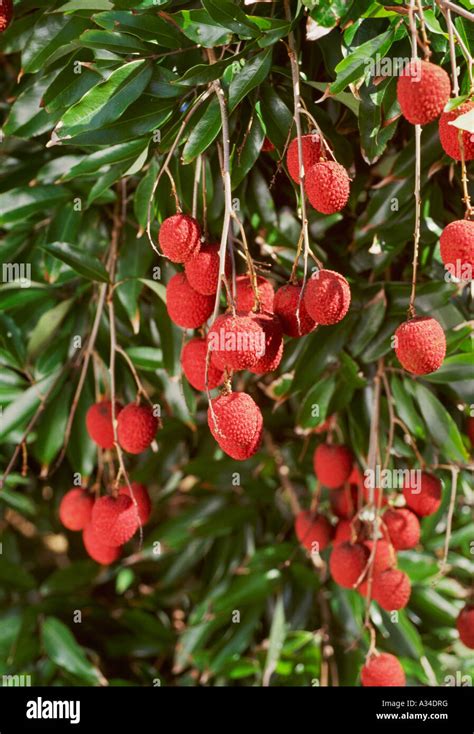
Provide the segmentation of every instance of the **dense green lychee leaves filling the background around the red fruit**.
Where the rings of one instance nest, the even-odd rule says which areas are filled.
[[[460,4],[469,6],[468,0]],[[397,366],[390,339],[409,297],[414,135],[399,116],[396,79],[374,79],[367,60],[410,55],[401,10],[398,0],[292,3],[304,103],[353,179],[342,214],[311,210],[311,241],[324,263],[349,278],[353,306],[341,324],[289,342],[278,375],[242,374],[234,384],[245,386],[262,406],[265,427],[306,505],[315,491],[312,452],[321,440],[314,429],[337,412],[363,464],[377,360],[384,356],[388,367]],[[449,70],[443,18],[437,8],[426,16],[434,58]],[[306,38],[308,18],[318,24],[317,41]],[[459,17],[455,23],[474,53],[472,26]],[[217,451],[204,397],[180,379],[182,334],[167,318],[163,285],[175,268],[160,260],[162,279],[154,280],[158,261],[144,235],[159,166],[189,106],[220,78],[230,112],[239,216],[255,257],[271,266],[277,284],[287,280],[300,232],[296,190],[284,169],[271,182],[292,125],[289,29],[280,2],[15,3],[14,23],[0,39],[0,259],[31,263],[33,284],[0,287],[3,467],[38,408],[39,391],[52,391],[28,437],[28,472],[20,472],[20,457],[0,493],[0,673],[29,672],[34,684],[57,685],[315,685],[325,680],[329,656],[330,682],[336,682],[337,667],[341,684],[358,685],[368,647],[363,600],[316,573],[297,547],[272,452],[263,448],[236,466]],[[216,64],[209,64],[202,46],[215,50]],[[465,94],[460,53],[459,61]],[[329,96],[317,104],[328,84]],[[81,102],[90,90],[92,114]],[[197,156],[205,154],[208,228],[216,241],[224,206],[220,131],[211,95],[191,117],[170,164],[189,211]],[[261,152],[265,135],[275,153]],[[86,560],[77,535],[68,533],[66,542],[57,516],[73,473],[94,478],[96,450],[84,428],[95,394],[92,369],[66,458],[57,471],[50,469],[79,376],[73,339],[80,335],[86,343],[98,288],[107,278],[104,261],[120,181],[126,182],[127,202],[115,291],[118,341],[163,406],[164,425],[158,453],[128,459],[132,478],[146,482],[153,497],[143,548],[133,541],[122,561],[101,570]],[[170,193],[163,176],[154,198],[155,240],[159,223],[174,213]],[[425,459],[465,466],[465,416],[474,403],[472,295],[444,280],[439,257],[441,229],[461,218],[463,208],[459,167],[443,154],[436,123],[423,130],[422,196],[417,308],[436,315],[446,329],[448,358],[423,379],[387,374],[395,412]],[[243,272],[243,261],[239,267]],[[107,365],[106,312],[96,351]],[[120,357],[116,377],[118,393],[133,400],[133,378]],[[314,404],[321,407],[316,419]],[[381,408],[383,453],[386,395]],[[399,429],[391,466],[416,466]],[[472,656],[454,629],[474,565],[473,480],[461,471],[450,572],[433,586],[450,491],[450,472],[439,475],[443,505],[423,521],[423,550],[399,554],[414,587],[409,608],[396,623],[372,609],[379,648],[397,654],[417,685],[430,682],[430,668],[438,684],[455,671],[474,676]],[[159,555],[153,552],[156,541]],[[75,610],[82,612],[81,623],[74,622]],[[234,610],[240,624],[232,623]]]

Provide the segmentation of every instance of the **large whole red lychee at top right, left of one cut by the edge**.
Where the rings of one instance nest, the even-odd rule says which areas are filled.
[[[412,125],[427,125],[444,110],[451,95],[448,74],[429,61],[413,59],[397,82],[397,98],[403,116]]]

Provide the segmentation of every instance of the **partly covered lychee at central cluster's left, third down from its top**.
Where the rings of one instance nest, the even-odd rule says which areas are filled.
[[[166,287],[168,315],[182,329],[198,329],[212,314],[213,296],[203,296],[191,288],[184,273],[173,275]]]

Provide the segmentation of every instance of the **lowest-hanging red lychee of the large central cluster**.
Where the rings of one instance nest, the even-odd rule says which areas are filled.
[[[226,454],[245,461],[255,454],[262,440],[260,408],[246,393],[231,392],[211,401],[207,413],[210,431]]]

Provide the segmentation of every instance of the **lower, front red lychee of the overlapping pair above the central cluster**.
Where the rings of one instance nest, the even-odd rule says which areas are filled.
[[[346,169],[335,161],[316,163],[309,169],[305,188],[308,199],[321,214],[335,214],[349,199],[350,180]]]

